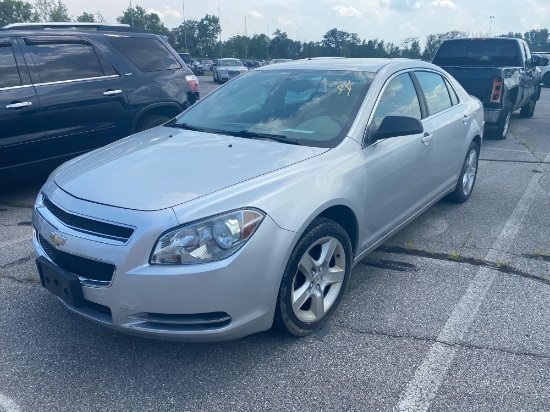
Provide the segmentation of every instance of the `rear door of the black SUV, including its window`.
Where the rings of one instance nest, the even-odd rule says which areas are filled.
[[[129,133],[124,82],[90,42],[36,36],[23,43],[58,163]]]

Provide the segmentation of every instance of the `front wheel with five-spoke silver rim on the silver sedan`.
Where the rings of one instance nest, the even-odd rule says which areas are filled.
[[[274,324],[295,336],[320,329],[345,294],[351,263],[351,242],[344,228],[330,219],[315,219],[290,255]]]

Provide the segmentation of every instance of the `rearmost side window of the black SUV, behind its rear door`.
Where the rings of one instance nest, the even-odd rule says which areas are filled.
[[[142,72],[181,68],[172,53],[157,39],[109,36],[107,40]]]

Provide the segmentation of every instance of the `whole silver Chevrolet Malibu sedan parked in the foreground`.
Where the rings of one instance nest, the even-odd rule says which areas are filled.
[[[259,68],[55,170],[33,212],[42,285],[141,336],[308,335],[355,264],[470,197],[482,130],[481,103],[429,63]]]

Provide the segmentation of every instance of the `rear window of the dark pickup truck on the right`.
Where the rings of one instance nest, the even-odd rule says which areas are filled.
[[[438,66],[520,66],[518,43],[509,40],[452,40],[441,44]]]

